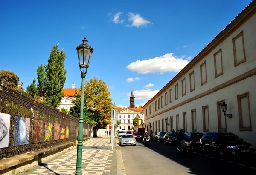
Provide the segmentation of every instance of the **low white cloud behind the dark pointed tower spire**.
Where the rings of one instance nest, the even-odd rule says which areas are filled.
[[[151,99],[152,97],[154,97],[157,92],[159,92],[159,90],[154,90],[154,91],[151,91],[151,89],[142,89],[140,91],[134,91],[133,94],[134,94],[134,97],[135,97],[135,100],[149,100]],[[127,96],[130,97],[131,95],[131,92],[128,92],[127,93]],[[129,100],[130,98],[128,99],[124,99],[124,100]]]

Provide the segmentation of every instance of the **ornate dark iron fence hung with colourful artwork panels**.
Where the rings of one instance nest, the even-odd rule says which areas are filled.
[[[78,126],[78,118],[0,85],[0,159],[75,142]],[[90,125],[83,128],[90,135]]]

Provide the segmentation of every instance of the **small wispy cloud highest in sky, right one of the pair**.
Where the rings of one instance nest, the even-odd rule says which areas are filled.
[[[132,22],[132,24],[127,24],[127,27],[134,26],[134,27],[143,27],[147,26],[148,24],[153,24],[152,22],[146,20],[145,18],[141,17],[140,14],[134,14],[129,12],[128,14],[128,21]]]

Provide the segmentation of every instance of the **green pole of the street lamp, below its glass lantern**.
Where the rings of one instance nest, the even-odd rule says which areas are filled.
[[[79,118],[79,129],[78,129],[78,144],[77,144],[77,158],[76,158],[76,175],[82,175],[82,149],[83,149],[83,121],[84,121],[84,78],[85,72],[81,72],[82,87],[81,87],[81,105],[80,105],[80,118]]]

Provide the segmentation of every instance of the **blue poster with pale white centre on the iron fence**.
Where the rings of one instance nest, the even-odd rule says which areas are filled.
[[[30,118],[15,116],[13,146],[29,144]]]

